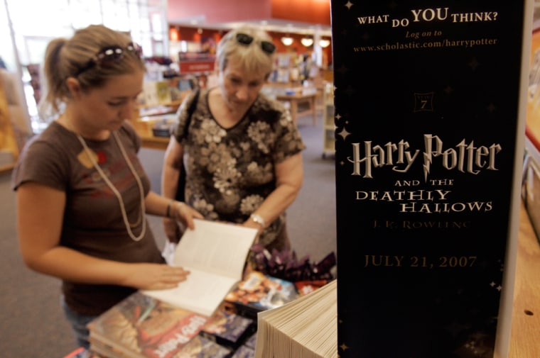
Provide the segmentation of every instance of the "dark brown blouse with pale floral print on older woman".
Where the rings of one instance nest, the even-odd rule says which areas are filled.
[[[198,104],[185,133],[188,98],[178,111],[171,133],[184,147],[185,201],[207,220],[244,223],[276,189],[275,165],[301,152],[304,145],[291,115],[277,101],[259,94],[244,118],[223,128],[212,116],[208,91]],[[268,245],[285,223],[285,213],[261,233]]]

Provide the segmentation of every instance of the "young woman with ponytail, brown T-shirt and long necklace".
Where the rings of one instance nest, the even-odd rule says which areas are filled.
[[[150,191],[126,121],[143,87],[140,47],[104,26],[47,47],[44,97],[59,113],[13,170],[18,236],[28,267],[63,280],[62,301],[80,345],[86,324],[136,289],[185,280],[164,263],[146,213],[193,228],[200,213]]]

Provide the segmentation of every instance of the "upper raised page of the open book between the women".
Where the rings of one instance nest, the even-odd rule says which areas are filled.
[[[254,228],[195,219],[195,230],[185,231],[174,262],[240,280],[256,235]]]

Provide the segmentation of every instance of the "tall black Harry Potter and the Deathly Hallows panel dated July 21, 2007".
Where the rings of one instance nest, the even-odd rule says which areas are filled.
[[[507,357],[531,5],[331,2],[341,358]]]

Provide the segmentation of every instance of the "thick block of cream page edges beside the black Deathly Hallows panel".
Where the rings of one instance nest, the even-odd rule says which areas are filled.
[[[338,357],[337,279],[284,306],[259,312],[255,358]]]

